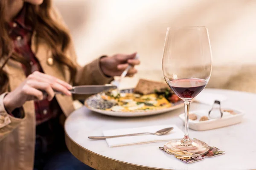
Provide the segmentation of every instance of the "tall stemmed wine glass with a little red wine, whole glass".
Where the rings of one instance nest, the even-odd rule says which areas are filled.
[[[164,145],[176,156],[201,156],[209,146],[189,138],[189,105],[207,85],[212,72],[212,51],[207,27],[167,28],[163,50],[163,75],[166,83],[184,101],[185,136]]]

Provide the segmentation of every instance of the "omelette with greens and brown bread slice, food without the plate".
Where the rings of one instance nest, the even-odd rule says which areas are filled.
[[[170,108],[172,103],[178,102],[180,99],[172,93],[168,86],[166,87],[166,84],[161,84],[140,79],[134,93],[119,93],[118,90],[102,93],[103,100],[115,103],[111,108],[105,110],[133,112]]]

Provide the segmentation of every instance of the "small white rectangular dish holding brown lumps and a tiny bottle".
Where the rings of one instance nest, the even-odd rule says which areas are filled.
[[[242,111],[238,111],[236,109],[230,109],[230,108],[224,108],[222,110],[233,110],[236,114],[229,114],[227,112],[223,112],[223,117],[219,119],[209,119],[205,121],[199,121],[201,116],[207,116],[209,111],[207,110],[198,110],[198,111],[190,111],[189,114],[194,113],[197,116],[196,120],[189,119],[189,128],[197,131],[202,130],[210,130],[210,129],[216,129],[220,127],[230,126],[237,123],[240,123],[242,121],[242,117],[244,116],[244,113]],[[185,117],[184,113],[180,114],[180,119],[183,120],[183,125],[185,124]],[[209,118],[209,117],[208,117]]]

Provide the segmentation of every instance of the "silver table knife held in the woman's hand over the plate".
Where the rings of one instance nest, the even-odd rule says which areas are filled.
[[[109,89],[116,89],[115,85],[79,85],[74,86],[69,91],[72,94],[97,94],[102,91],[107,91]],[[47,95],[46,91],[42,91],[44,95]],[[55,94],[62,94],[59,91],[54,91]]]

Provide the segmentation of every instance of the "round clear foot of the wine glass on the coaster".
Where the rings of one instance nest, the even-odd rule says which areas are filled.
[[[182,139],[172,140],[164,144],[164,150],[175,156],[183,156],[183,157],[196,157],[202,156],[209,151],[209,146],[205,142],[202,142],[197,139],[192,139],[191,144],[184,145],[181,142]]]

